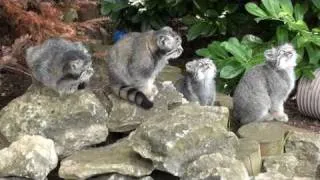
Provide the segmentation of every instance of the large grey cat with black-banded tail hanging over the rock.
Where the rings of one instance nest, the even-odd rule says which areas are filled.
[[[158,93],[154,80],[169,59],[181,55],[181,37],[170,27],[129,33],[106,58],[110,86],[123,99],[149,109]]]

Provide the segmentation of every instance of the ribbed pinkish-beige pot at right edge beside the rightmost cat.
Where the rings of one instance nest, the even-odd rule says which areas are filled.
[[[297,104],[301,113],[320,120],[320,69],[314,75],[313,80],[302,78],[299,81]]]

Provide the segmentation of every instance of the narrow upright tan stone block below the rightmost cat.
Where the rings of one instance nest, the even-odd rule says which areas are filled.
[[[246,138],[239,140],[237,159],[243,162],[250,176],[255,176],[261,171],[261,152],[257,141]]]

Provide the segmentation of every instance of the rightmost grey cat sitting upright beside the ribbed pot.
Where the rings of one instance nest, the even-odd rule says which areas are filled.
[[[291,44],[264,52],[265,64],[244,74],[233,96],[233,116],[242,124],[253,121],[287,122],[283,103],[294,87],[297,53]]]

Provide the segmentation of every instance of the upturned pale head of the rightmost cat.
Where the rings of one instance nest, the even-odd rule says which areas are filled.
[[[277,69],[290,69],[297,65],[297,52],[291,44],[284,44],[276,48],[266,50],[265,58]]]

